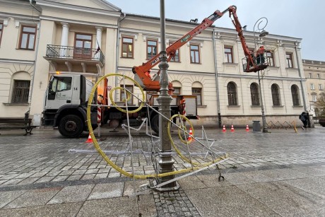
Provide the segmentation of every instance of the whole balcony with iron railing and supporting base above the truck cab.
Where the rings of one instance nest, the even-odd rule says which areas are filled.
[[[105,56],[97,49],[47,45],[46,57],[54,71],[102,74]]]

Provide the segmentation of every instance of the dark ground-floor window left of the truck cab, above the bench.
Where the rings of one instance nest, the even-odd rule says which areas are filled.
[[[28,103],[30,92],[30,81],[13,80],[13,98],[12,103]]]

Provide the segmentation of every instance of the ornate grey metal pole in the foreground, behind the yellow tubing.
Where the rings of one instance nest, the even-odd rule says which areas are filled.
[[[168,139],[167,124],[169,124],[168,119],[170,119],[170,102],[172,97],[168,94],[168,62],[166,53],[166,42],[165,42],[165,0],[160,0],[160,37],[161,37],[161,52],[160,52],[160,95],[157,98],[159,103],[159,112],[167,117],[164,118],[162,115],[159,116],[159,137],[160,137],[160,154],[157,157],[158,161],[158,173],[172,172],[174,160],[172,159],[171,153],[172,144]],[[166,153],[166,154],[164,154]],[[158,179],[159,183],[167,182],[174,179],[175,175],[170,175],[167,177],[160,177]],[[175,191],[179,188],[176,181],[170,182],[168,184],[162,185],[162,187],[156,188],[159,192],[170,192]]]

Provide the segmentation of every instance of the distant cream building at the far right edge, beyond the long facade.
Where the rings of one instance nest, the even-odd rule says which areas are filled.
[[[309,101],[310,115],[315,116],[314,102],[317,101],[319,96],[324,95],[325,87],[325,62],[302,59],[304,66],[306,86]]]

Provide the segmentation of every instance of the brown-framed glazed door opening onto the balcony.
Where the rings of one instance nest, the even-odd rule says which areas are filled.
[[[76,59],[91,59],[93,35],[76,33],[73,57]]]

